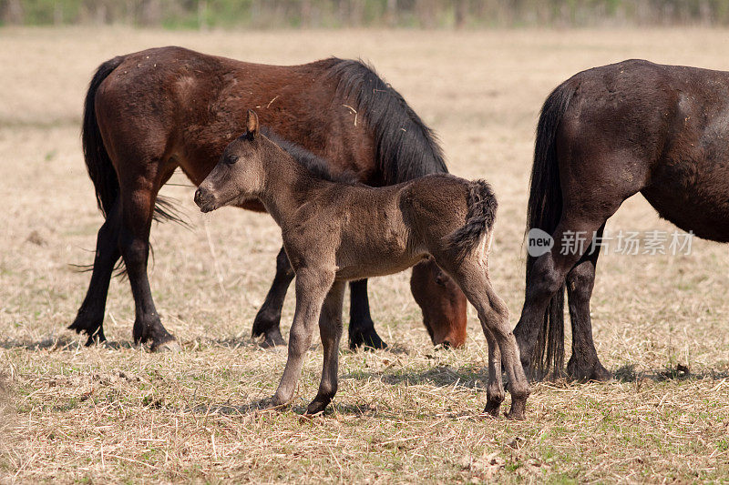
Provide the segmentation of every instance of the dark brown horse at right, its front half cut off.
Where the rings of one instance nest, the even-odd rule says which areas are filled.
[[[547,98],[528,228],[548,232],[555,247],[527,260],[526,299],[514,330],[522,363],[536,364],[536,377],[562,369],[566,287],[567,370],[576,379],[610,379],[590,321],[600,246],[559,248],[569,234],[601,237],[608,217],[639,192],[683,230],[729,242],[729,73],[631,60],[581,72]]]

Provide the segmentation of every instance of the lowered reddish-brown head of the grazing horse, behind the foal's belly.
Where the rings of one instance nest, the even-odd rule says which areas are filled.
[[[432,258],[413,267],[410,289],[423,309],[423,324],[435,345],[460,347],[466,343],[466,296]]]

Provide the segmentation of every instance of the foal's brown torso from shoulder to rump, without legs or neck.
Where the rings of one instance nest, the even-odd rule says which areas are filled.
[[[467,183],[447,174],[388,187],[324,183],[300,209],[306,223],[284,231],[284,241],[305,258],[331,249],[339,279],[393,274],[443,250],[444,237],[465,224]]]

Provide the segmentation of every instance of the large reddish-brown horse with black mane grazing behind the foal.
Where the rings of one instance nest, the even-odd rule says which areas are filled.
[[[109,278],[123,258],[136,306],[133,337],[152,349],[175,345],[162,326],[147,278],[153,217],[175,218],[159,188],[177,167],[195,185],[241,131],[233,113],[259,106],[282,136],[329,160],[334,173],[354,172],[372,186],[447,172],[427,126],[395,89],[358,61],[324,59],[303,66],[264,66],[180,47],[115,57],[98,67],[88,88],[83,146],[88,174],[106,222],[87,296],[70,326],[104,340]],[[241,207],[262,211],[251,201]],[[466,338],[465,297],[434,275],[433,263],[413,270],[413,291],[434,343]],[[252,328],[269,345],[283,343],[281,308],[293,271],[283,252]],[[383,347],[369,313],[366,280],[354,282],[350,345]],[[455,302],[455,303],[454,303]]]

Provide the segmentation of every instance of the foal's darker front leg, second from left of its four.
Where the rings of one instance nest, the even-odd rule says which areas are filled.
[[[332,402],[334,394],[336,394],[345,287],[344,281],[335,282],[326,299],[324,299],[322,314],[319,316],[319,333],[322,336],[324,348],[322,381],[319,384],[316,397],[306,409],[307,414],[322,412]]]

